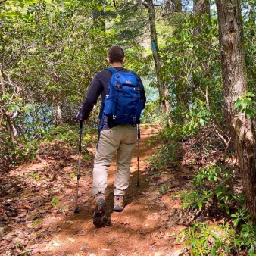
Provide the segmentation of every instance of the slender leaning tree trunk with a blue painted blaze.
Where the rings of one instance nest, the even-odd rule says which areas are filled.
[[[161,113],[163,114],[164,120],[167,120],[167,113],[170,112],[170,103],[168,101],[169,89],[167,86],[164,86],[164,83],[161,80],[161,64],[158,56],[158,37],[155,29],[155,8],[152,0],[148,1],[148,17],[150,25],[151,49],[155,62],[155,73],[157,76]],[[167,120],[167,124],[170,125],[170,123],[170,120]]]

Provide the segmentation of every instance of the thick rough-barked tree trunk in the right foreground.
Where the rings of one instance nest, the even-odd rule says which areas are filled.
[[[234,109],[234,102],[247,94],[242,15],[239,0],[216,0],[226,122],[234,142],[242,176],[246,207],[256,216],[255,136],[245,111]],[[252,219],[253,220],[253,219]],[[253,220],[254,224],[256,220]]]

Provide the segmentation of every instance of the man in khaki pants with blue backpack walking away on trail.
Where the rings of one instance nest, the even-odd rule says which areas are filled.
[[[120,212],[124,208],[124,195],[129,185],[130,179],[130,164],[133,156],[133,148],[136,145],[137,139],[137,127],[139,123],[140,111],[145,108],[145,90],[142,85],[142,81],[136,73],[130,70],[126,70],[123,67],[125,57],[123,48],[120,46],[112,46],[108,51],[108,63],[111,68],[102,70],[96,73],[92,80],[89,91],[87,92],[85,101],[77,121],[82,123],[89,118],[89,114],[96,104],[99,95],[101,95],[101,111],[99,118],[101,119],[98,133],[98,145],[96,148],[94,167],[93,167],[93,182],[92,182],[92,196],[94,197],[95,211],[93,216],[93,223],[95,226],[101,226],[102,218],[105,217],[107,210],[107,204],[105,201],[105,189],[108,184],[108,167],[113,161],[114,155],[117,152],[117,172],[114,180],[114,211]],[[114,82],[114,73],[116,73],[116,81]],[[135,77],[133,80],[133,76]],[[123,79],[124,76],[127,76]],[[131,77],[131,79],[129,78]],[[121,82],[124,80],[125,82]],[[131,80],[131,81],[130,81]],[[112,81],[112,82],[111,82]],[[136,81],[136,82],[133,82]],[[110,89],[110,83],[112,89]],[[137,87],[133,88],[132,83],[138,83]],[[119,90],[115,92],[115,96],[112,96],[109,92]],[[126,103],[123,107],[123,112],[118,113],[119,105],[125,104],[127,95],[130,93],[130,98],[133,98],[134,93],[137,93],[136,101],[139,98],[139,104],[141,107],[136,107],[135,111],[139,111],[139,114],[133,114],[133,120],[119,120],[129,116],[129,111],[132,111],[130,105],[134,103]],[[139,94],[138,94],[139,93]],[[139,97],[138,97],[139,95]],[[116,102],[111,102],[111,107],[107,114],[108,101],[110,98],[117,97]],[[123,97],[123,98],[118,98]],[[139,105],[138,105],[139,106]],[[139,109],[140,108],[140,109]],[[139,110],[138,110],[139,109]],[[113,113],[116,111],[117,113]],[[125,113],[124,113],[125,112]],[[129,123],[130,122],[130,123]]]

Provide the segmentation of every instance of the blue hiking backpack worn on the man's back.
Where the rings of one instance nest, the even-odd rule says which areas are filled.
[[[132,124],[140,122],[140,115],[144,105],[142,98],[142,82],[133,71],[123,72],[113,67],[106,68],[111,71],[111,81],[108,84],[108,95],[104,101],[102,119],[107,116],[116,124]]]

